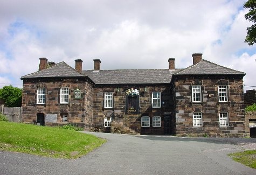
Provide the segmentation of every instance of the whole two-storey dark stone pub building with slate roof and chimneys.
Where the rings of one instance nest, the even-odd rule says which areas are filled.
[[[22,76],[23,122],[75,123],[87,131],[142,135],[243,137],[245,73],[192,55],[193,65],[167,69],[75,69],[40,58]]]

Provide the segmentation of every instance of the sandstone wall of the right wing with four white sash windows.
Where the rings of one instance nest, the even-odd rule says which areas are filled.
[[[202,103],[191,102],[191,86],[201,85]],[[228,85],[228,102],[218,102],[218,86]],[[178,136],[243,137],[245,133],[242,79],[181,77],[175,80]],[[229,114],[229,126],[219,127],[219,113]],[[201,112],[202,127],[193,127],[193,113]]]

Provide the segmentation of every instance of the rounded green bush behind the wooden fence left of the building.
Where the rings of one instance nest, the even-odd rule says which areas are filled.
[[[7,107],[22,106],[22,88],[4,86],[0,89],[0,98],[4,100]]]

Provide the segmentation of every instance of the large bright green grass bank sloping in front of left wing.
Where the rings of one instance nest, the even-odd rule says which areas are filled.
[[[0,150],[78,158],[106,140],[74,130],[0,121]]]

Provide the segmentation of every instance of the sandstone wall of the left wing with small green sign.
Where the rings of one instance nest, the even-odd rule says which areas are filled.
[[[37,88],[46,88],[45,104],[37,104]],[[60,88],[70,90],[69,103],[59,102]],[[74,99],[74,89],[81,90],[81,99]],[[35,123],[37,114],[56,114],[57,122],[46,125],[67,124],[61,122],[61,114],[68,114],[68,123],[76,123],[89,130],[93,113],[93,88],[91,83],[78,79],[30,80],[23,82],[23,122]]]

